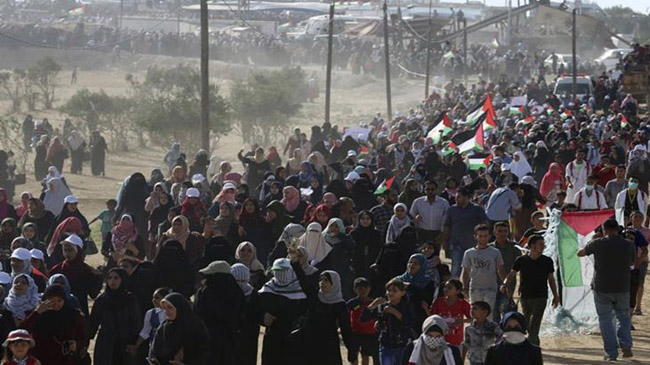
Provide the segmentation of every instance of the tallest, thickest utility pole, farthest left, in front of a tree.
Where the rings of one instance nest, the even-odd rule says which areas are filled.
[[[201,148],[210,151],[210,40],[208,0],[201,0]]]

